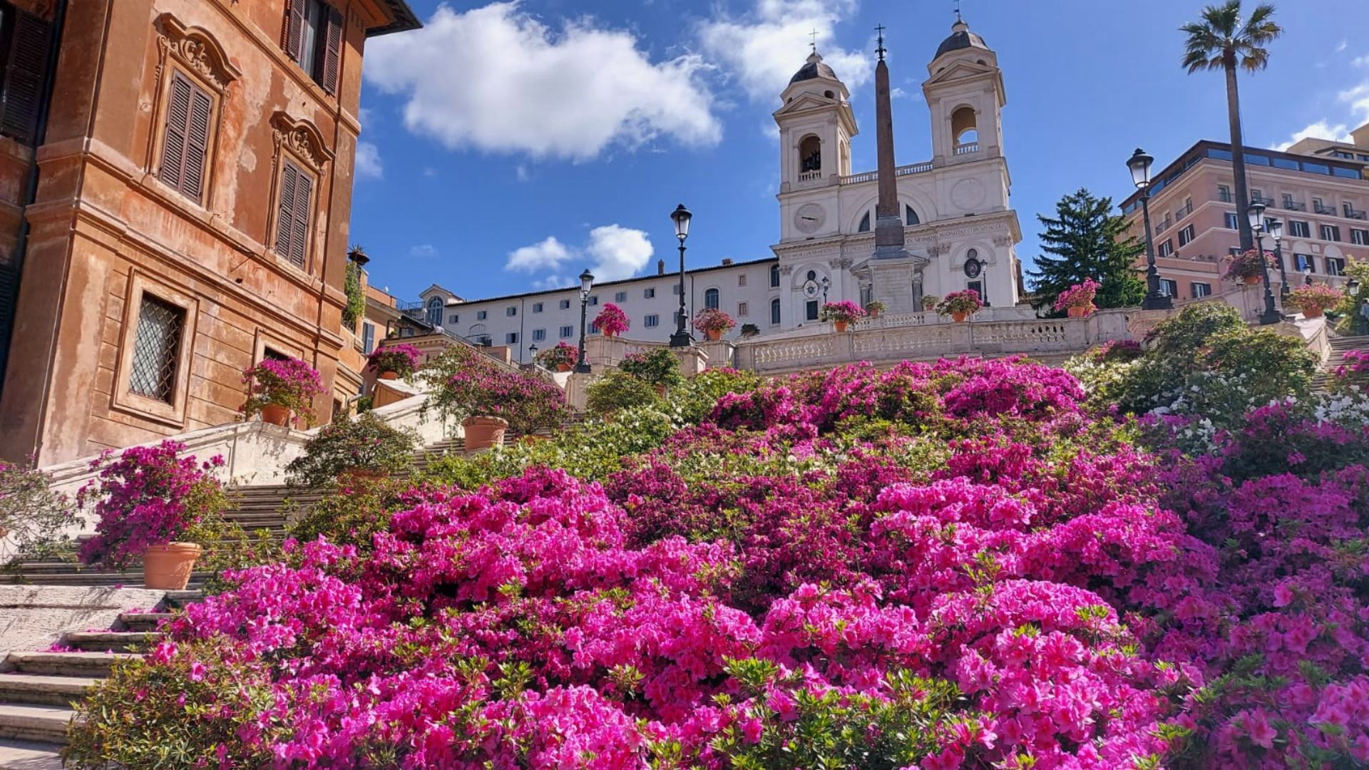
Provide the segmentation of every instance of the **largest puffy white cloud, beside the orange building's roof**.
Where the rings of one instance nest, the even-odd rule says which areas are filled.
[[[519,3],[438,5],[419,32],[367,45],[366,75],[407,97],[404,125],[450,149],[587,160],[657,137],[713,145],[721,123],[695,55],[653,63],[591,19],[552,30]],[[554,115],[556,119],[548,119]]]

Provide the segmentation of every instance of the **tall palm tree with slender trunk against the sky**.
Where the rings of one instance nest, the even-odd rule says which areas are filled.
[[[1179,32],[1188,36],[1183,62],[1188,67],[1188,74],[1198,70],[1227,73],[1227,121],[1231,123],[1231,169],[1236,175],[1236,219],[1242,249],[1251,248],[1254,238],[1250,234],[1250,219],[1246,216],[1250,195],[1246,188],[1236,67],[1258,73],[1269,66],[1269,49],[1264,47],[1283,34],[1283,27],[1273,22],[1273,15],[1275,7],[1265,3],[1257,5],[1250,18],[1242,22],[1240,0],[1227,0],[1223,5],[1203,8],[1202,21],[1179,27]]]

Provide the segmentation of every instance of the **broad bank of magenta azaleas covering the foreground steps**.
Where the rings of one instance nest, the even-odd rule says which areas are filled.
[[[1364,767],[1361,392],[1195,432],[1090,388],[713,371],[333,496],[120,665],[68,760]]]

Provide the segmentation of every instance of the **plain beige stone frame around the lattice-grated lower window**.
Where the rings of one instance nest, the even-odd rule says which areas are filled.
[[[171,389],[171,403],[159,401],[129,389],[133,377],[133,353],[138,336],[138,318],[142,311],[142,296],[152,295],[166,304],[179,307],[185,312],[181,327],[181,344],[177,351],[175,385]],[[190,393],[190,366],[194,363],[196,322],[200,315],[200,300],[193,295],[163,284],[145,273],[133,273],[123,300],[123,327],[119,333],[119,363],[114,378],[112,408],[144,419],[185,427],[186,403]]]

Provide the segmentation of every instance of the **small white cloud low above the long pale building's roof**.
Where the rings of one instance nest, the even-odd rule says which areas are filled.
[[[554,236],[509,252],[504,270],[537,273],[556,271],[571,260],[580,260],[594,274],[596,281],[617,281],[638,274],[652,260],[652,241],[643,230],[620,225],[604,225],[589,233],[582,247],[567,247]],[[552,274],[537,280],[538,289],[564,288],[576,284],[575,278]]]

